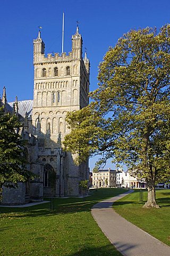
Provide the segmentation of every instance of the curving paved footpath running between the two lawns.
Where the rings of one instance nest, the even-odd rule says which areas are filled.
[[[125,220],[113,210],[113,203],[132,191],[95,204],[91,213],[109,241],[124,256],[170,256],[170,247]],[[168,227],[167,227],[168,228]]]

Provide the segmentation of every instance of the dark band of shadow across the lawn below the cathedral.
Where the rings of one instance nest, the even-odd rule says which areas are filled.
[[[0,218],[24,218],[24,217],[50,217],[56,214],[69,214],[90,211],[91,207],[107,198],[111,198],[126,192],[125,189],[105,188],[94,191],[94,194],[86,197],[86,201],[82,198],[55,198],[54,210],[50,210],[50,203],[39,204],[24,208],[0,207]]]

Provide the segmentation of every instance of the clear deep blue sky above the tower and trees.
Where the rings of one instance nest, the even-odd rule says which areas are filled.
[[[33,99],[33,39],[38,26],[45,53],[62,49],[62,13],[65,14],[64,51],[71,51],[77,20],[90,59],[90,90],[97,88],[99,62],[130,29],[170,23],[170,1],[163,0],[1,0],[0,93],[6,87],[8,102]],[[90,159],[92,168],[95,159]],[[106,167],[114,167],[110,162]]]

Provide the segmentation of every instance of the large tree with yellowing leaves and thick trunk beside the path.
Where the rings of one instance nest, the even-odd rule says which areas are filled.
[[[65,146],[77,162],[101,154],[145,179],[148,201],[158,207],[155,183],[170,178],[170,25],[131,30],[99,65],[92,103],[67,116]]]

